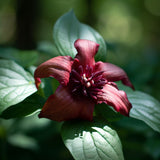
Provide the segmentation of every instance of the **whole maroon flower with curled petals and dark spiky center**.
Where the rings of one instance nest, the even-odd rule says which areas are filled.
[[[106,103],[117,112],[129,116],[132,107],[124,91],[114,81],[133,88],[126,73],[111,63],[95,62],[99,44],[78,39],[74,43],[77,55],[58,56],[42,63],[35,71],[35,83],[40,78],[53,77],[60,85],[44,104],[39,117],[54,121],[84,119],[91,121],[95,104]],[[106,106],[107,107],[107,106]]]

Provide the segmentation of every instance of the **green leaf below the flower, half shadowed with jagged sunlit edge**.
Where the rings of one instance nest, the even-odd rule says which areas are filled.
[[[101,122],[65,122],[62,138],[76,160],[124,159],[117,133]]]

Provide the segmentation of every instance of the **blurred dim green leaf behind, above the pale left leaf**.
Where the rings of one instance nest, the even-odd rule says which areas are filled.
[[[38,59],[36,51],[21,51],[14,48],[0,48],[0,57],[14,60],[23,67],[34,65]]]

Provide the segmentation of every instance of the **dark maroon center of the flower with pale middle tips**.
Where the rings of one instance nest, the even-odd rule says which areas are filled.
[[[69,87],[73,95],[86,96],[97,99],[97,92],[101,91],[107,80],[102,76],[103,71],[93,71],[92,67],[79,65],[71,70]]]

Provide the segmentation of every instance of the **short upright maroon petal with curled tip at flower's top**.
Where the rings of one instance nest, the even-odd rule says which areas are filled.
[[[78,51],[75,58],[77,58],[83,66],[88,65],[92,67],[95,64],[94,56],[98,51],[99,44],[89,40],[78,39],[75,41],[74,46]]]

